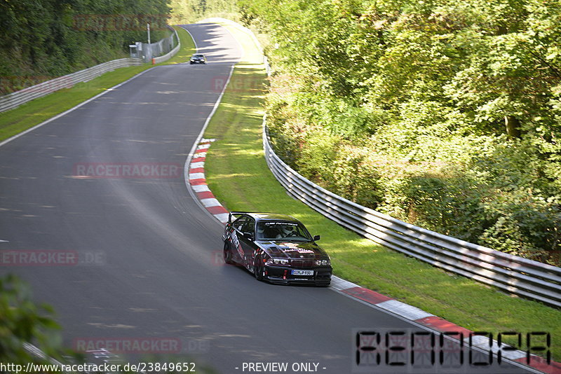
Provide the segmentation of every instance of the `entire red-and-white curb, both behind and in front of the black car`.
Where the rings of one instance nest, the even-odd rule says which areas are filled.
[[[206,154],[208,148],[210,148],[210,144],[212,144],[212,141],[215,141],[215,139],[201,139],[198,143],[196,150],[194,151],[193,158],[191,158],[191,162],[189,163],[189,185],[204,209],[206,209],[208,213],[214,216],[221,223],[226,223],[228,221],[229,212],[227,209],[222,207],[215,195],[212,194],[208,188],[205,178]],[[436,333],[450,333],[451,338],[454,338],[454,335],[456,334],[459,336],[461,333],[463,334],[464,343],[466,345],[471,344],[471,346],[479,347],[480,349],[486,351],[492,349],[494,354],[497,354],[500,350],[501,356],[504,359],[508,359],[513,362],[520,363],[522,366],[534,369],[532,371],[538,370],[547,374],[561,374],[561,363],[557,363],[555,361],[547,363],[546,359],[532,354],[528,364],[527,352],[523,352],[518,349],[505,349],[504,344],[501,347],[496,340],[489,342],[489,338],[482,335],[472,336],[470,342],[470,334],[474,333],[474,331],[458,326],[457,324],[452,324],[452,322],[436,317],[434,314],[420,310],[412,305],[407,305],[401,301],[382,295],[381,293],[377,293],[376,291],[365,289],[364,287],[358,286],[358,284],[333,276],[330,288],[334,289],[334,291],[344,293],[346,296],[351,298],[358,299],[374,308],[385,310],[386,312],[395,314],[402,319],[424,326]]]

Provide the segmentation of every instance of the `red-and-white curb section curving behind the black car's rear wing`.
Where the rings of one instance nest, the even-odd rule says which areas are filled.
[[[189,164],[189,185],[207,212],[215,216],[218,221],[227,223],[228,211],[222,207],[215,195],[212,195],[205,178],[206,153],[212,141],[215,139],[201,139],[198,143]]]

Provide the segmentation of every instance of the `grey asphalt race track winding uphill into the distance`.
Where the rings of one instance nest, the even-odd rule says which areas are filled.
[[[273,286],[224,265],[222,226],[191,199],[182,167],[219,96],[217,81],[241,51],[222,27],[186,28],[208,64],[149,69],[0,147],[0,249],[81,261],[18,258],[0,272],[15,272],[55,307],[69,347],[149,341],[143,353],[177,358],[179,348],[224,374],[273,362],[288,363],[287,373],[294,363],[352,373],[353,329],[414,326],[332,289]],[[526,372],[506,364],[358,372],[451,371]]]

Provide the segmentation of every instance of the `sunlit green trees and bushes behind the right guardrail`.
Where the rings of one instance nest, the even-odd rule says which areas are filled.
[[[238,0],[276,151],[334,193],[561,263],[560,0]]]

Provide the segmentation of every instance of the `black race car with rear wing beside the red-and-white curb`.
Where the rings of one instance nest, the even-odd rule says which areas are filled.
[[[329,286],[331,261],[316,244],[319,239],[292,216],[231,212],[222,235],[224,262],[241,265],[266,282]]]

